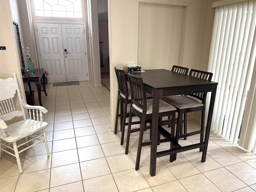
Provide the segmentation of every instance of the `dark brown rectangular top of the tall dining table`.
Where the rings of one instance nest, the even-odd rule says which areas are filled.
[[[142,77],[144,84],[152,89],[163,88],[184,88],[186,86],[202,86],[218,84],[216,82],[172,72],[165,69],[144,70],[141,73],[131,73],[134,76]]]

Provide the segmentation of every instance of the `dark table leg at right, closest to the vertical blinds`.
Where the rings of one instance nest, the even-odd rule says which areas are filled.
[[[206,159],[206,152],[207,152],[208,140],[209,140],[209,136],[210,136],[210,128],[211,128],[211,123],[212,123],[212,112],[213,112],[213,107],[214,107],[216,89],[217,89],[217,85],[213,85],[212,91],[211,91],[212,95],[211,95],[211,100],[210,100],[209,113],[208,113],[207,124],[206,124],[206,132],[205,132],[205,137],[204,137],[205,146],[203,148],[201,162],[205,162],[205,159]]]

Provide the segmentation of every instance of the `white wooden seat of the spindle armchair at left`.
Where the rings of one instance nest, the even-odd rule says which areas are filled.
[[[14,124],[8,125],[8,128],[5,130],[6,138],[0,135],[0,138],[6,142],[14,142],[35,132],[38,132],[42,128],[45,128],[48,125],[46,122],[34,121],[27,119],[26,121],[22,120]]]

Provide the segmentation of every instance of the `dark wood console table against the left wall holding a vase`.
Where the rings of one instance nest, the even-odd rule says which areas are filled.
[[[35,69],[34,74],[27,74],[27,72],[22,73],[22,79],[23,83],[28,83],[29,90],[31,91],[31,85],[30,83],[35,83],[36,88],[38,91],[38,99],[39,104],[42,106],[42,100],[41,100],[41,79],[43,82],[43,91],[45,95],[47,96],[46,90],[45,90],[45,75],[44,75],[44,69]]]

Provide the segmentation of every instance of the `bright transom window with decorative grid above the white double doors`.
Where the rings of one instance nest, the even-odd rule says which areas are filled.
[[[81,0],[34,0],[35,15],[82,18]]]

